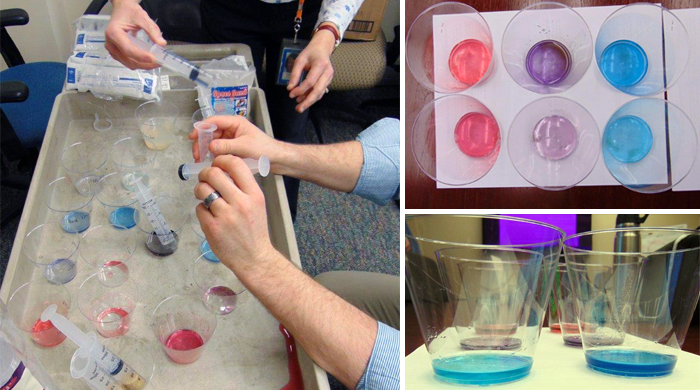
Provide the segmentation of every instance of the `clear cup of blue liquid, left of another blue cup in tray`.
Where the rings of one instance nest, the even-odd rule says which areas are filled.
[[[68,177],[49,183],[44,202],[49,208],[49,220],[58,220],[68,233],[82,233],[90,227],[92,193],[81,194]]]

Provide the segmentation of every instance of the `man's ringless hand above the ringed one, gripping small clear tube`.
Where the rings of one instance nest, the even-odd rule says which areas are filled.
[[[209,144],[209,151],[214,156],[233,154],[241,158],[260,158],[267,156],[274,165],[279,160],[279,155],[283,148],[283,143],[275,140],[254,124],[240,115],[213,116],[204,120],[207,123],[216,125],[214,141]],[[192,155],[195,161],[199,161],[199,141],[197,140],[197,129],[190,133],[190,139],[194,141],[192,145]]]

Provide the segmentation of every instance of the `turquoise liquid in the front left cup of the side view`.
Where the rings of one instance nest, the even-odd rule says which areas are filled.
[[[461,385],[493,385],[527,376],[532,358],[515,355],[467,354],[433,360],[433,371],[443,382]]]

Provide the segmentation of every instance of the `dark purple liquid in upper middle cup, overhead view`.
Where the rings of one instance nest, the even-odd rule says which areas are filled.
[[[564,80],[571,71],[571,53],[561,42],[544,40],[530,48],[525,59],[527,73],[543,85]]]

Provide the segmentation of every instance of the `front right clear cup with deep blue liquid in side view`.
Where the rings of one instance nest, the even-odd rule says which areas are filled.
[[[588,366],[671,374],[700,298],[700,232],[593,231],[568,237],[564,254]]]

